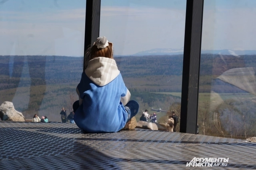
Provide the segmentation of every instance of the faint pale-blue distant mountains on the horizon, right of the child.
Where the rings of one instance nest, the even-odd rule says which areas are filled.
[[[171,48],[155,48],[152,50],[146,50],[138,52],[131,56],[151,56],[151,55],[179,55],[183,54],[183,49],[171,49]],[[222,54],[222,55],[254,55],[256,50],[202,50],[202,54]]]

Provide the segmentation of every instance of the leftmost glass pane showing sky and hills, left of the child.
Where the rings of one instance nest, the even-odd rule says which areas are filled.
[[[72,111],[84,51],[86,2],[9,0],[0,3],[0,104],[26,120],[61,121]]]

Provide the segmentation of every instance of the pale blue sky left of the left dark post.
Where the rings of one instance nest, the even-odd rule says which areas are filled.
[[[85,0],[0,0],[0,55],[83,56]]]

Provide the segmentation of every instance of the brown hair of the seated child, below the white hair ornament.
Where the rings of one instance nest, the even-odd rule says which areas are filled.
[[[88,62],[97,57],[106,57],[113,59],[113,43],[108,42],[106,48],[97,48],[96,45],[87,48],[84,53],[84,70],[86,69]]]

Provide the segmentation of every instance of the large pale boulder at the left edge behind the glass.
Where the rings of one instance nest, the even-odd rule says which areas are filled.
[[[0,118],[3,121],[25,122],[21,112],[14,109],[12,102],[3,102],[0,106]]]

